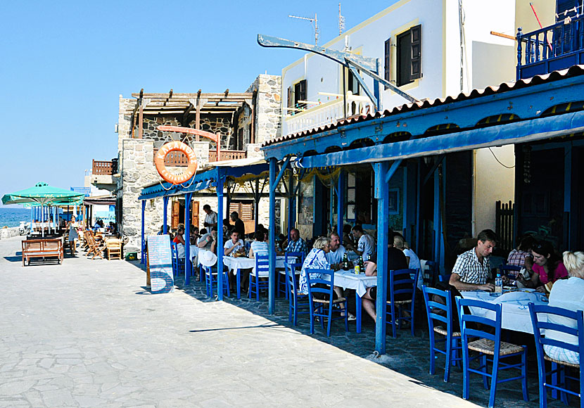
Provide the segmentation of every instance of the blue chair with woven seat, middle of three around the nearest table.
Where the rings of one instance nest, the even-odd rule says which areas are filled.
[[[485,389],[488,389],[487,377],[490,377],[489,408],[493,408],[493,405],[495,405],[497,384],[512,380],[521,379],[523,400],[528,401],[526,373],[527,347],[501,341],[502,306],[500,304],[483,302],[481,300],[462,299],[459,297],[456,298],[456,303],[462,336],[462,368],[464,371],[462,379],[462,397],[465,400],[469,399],[469,377],[470,373],[475,373],[483,376],[483,385],[485,386]],[[491,310],[495,312],[495,320],[488,319],[487,317],[475,316],[474,314],[466,314],[464,312],[465,307],[480,307],[482,309]],[[489,326],[494,329],[495,333],[493,334],[481,329],[475,329],[474,326],[476,326],[476,324]],[[478,338],[478,340],[472,340],[469,343],[469,337]],[[479,366],[478,369],[471,369],[469,365],[469,350],[479,353],[478,358],[481,359],[481,366]],[[488,359],[488,355],[493,356],[493,359]],[[521,363],[507,363],[502,361],[509,358],[515,359],[515,357],[521,357]],[[490,374],[487,372],[488,362],[493,362],[493,370]],[[498,378],[499,371],[516,368],[521,368],[521,376],[504,378],[502,380]]]

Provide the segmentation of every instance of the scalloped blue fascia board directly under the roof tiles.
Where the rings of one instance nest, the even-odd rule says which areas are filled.
[[[346,148],[357,139],[368,138],[377,143],[394,132],[410,132],[413,136],[420,137],[427,129],[445,123],[455,123],[461,129],[470,129],[485,117],[495,115],[512,113],[519,116],[521,120],[534,119],[552,106],[580,101],[583,94],[584,75],[568,77],[488,96],[356,122],[265,146],[262,150],[266,158],[275,157],[281,160],[286,155],[301,157],[306,151],[312,150],[324,153],[326,148],[331,146]]]

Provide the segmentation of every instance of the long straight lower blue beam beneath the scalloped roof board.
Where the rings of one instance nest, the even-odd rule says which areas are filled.
[[[313,155],[301,159],[300,167],[327,167],[417,158],[476,148],[526,143],[579,132],[584,132],[584,111],[443,134],[424,139],[398,141],[391,144],[355,148],[350,151]]]

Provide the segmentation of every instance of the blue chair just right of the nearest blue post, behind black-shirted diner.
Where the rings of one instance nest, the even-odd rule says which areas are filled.
[[[386,323],[391,324],[393,338],[397,337],[396,330],[402,321],[409,321],[414,335],[414,310],[416,303],[416,282],[419,269],[396,269],[389,271],[388,285],[390,297],[387,300]],[[412,274],[414,278],[412,279]],[[402,316],[404,310],[409,310],[410,316]]]

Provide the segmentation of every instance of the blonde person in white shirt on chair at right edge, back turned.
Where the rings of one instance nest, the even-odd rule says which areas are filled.
[[[536,261],[537,262],[537,261]],[[584,310],[584,253],[569,251],[564,252],[564,265],[568,269],[569,279],[561,279],[554,283],[550,293],[550,306],[561,307],[567,310]],[[550,314],[547,317],[550,323],[572,326],[576,329],[576,322]],[[557,331],[546,331],[546,338],[563,341],[564,343],[578,344],[578,338]],[[544,345],[545,354],[552,359],[557,359],[571,364],[580,364],[578,352],[557,348],[552,345]]]

